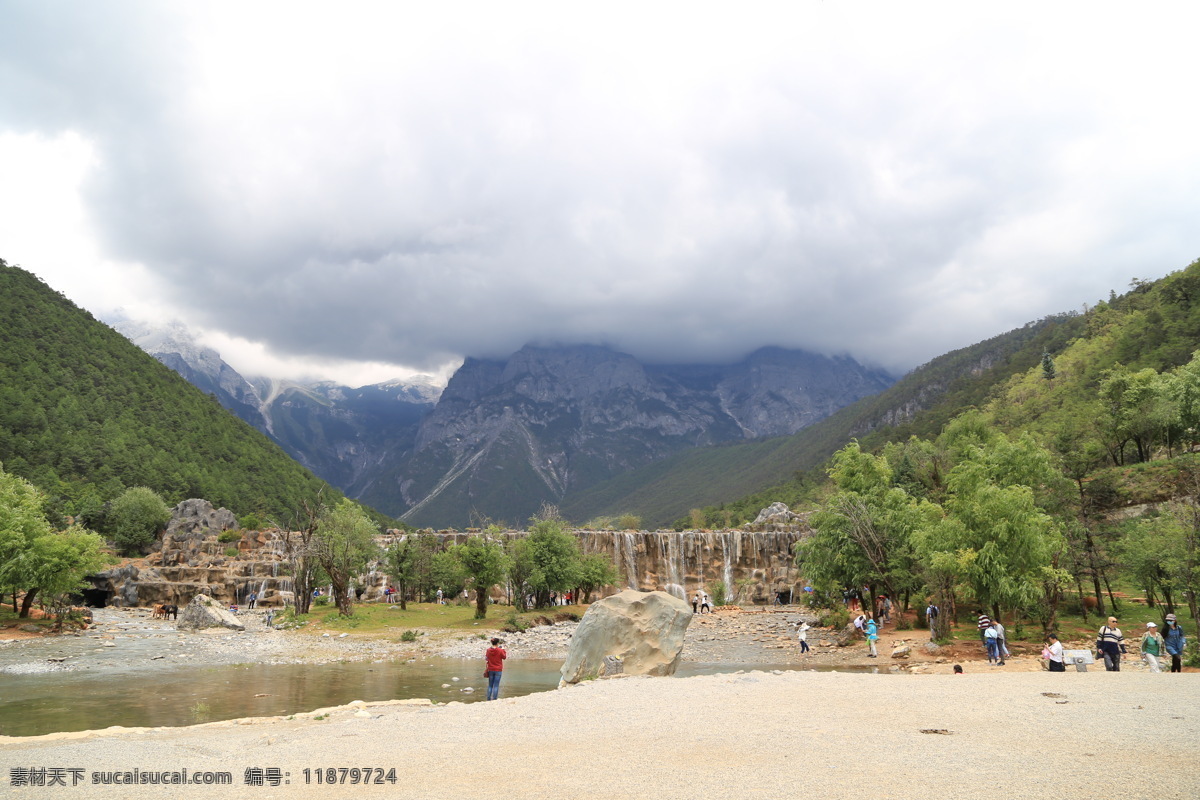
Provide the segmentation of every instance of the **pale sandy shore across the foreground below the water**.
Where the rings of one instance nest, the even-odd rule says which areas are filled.
[[[136,687],[131,687],[136,691]],[[942,733],[928,733],[942,732]],[[395,769],[318,784],[304,770]],[[1153,798],[1200,795],[1200,681],[1088,672],[624,678],[449,705],[0,739],[12,798]],[[74,768],[66,787],[13,770]],[[278,769],[289,784],[247,786]],[[232,786],[94,786],[134,769]],[[20,772],[17,772],[19,775]],[[132,790],[131,790],[132,789]]]

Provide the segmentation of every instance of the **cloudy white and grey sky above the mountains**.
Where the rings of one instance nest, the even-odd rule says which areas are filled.
[[[0,0],[0,258],[246,374],[527,343],[901,374],[1200,257],[1198,22]]]

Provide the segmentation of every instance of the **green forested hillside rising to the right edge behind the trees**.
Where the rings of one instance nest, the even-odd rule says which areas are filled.
[[[1003,344],[998,351],[997,344]],[[1082,313],[941,356],[878,397],[792,437],[787,452],[796,455],[791,463],[798,474],[790,480],[762,481],[757,489],[691,516],[703,524],[726,519],[738,524],[772,500],[803,505],[824,483],[822,464],[851,438],[857,437],[866,451],[910,437],[931,439],[972,407],[985,409],[1003,432],[1034,434],[1069,474],[1087,477],[1102,505],[1163,499],[1170,491],[1157,485],[1152,465],[1135,470],[1146,474],[1142,481],[1129,474],[1128,465],[1176,455],[1196,435],[1188,389],[1195,367],[1186,365],[1198,349],[1200,261],[1157,282],[1135,279],[1128,293],[1114,293]],[[1002,357],[980,360],[984,353]],[[931,379],[935,372],[960,377]],[[944,390],[926,408],[887,423],[895,409],[905,408],[905,398],[940,385]],[[1110,493],[1111,498],[1102,497]],[[685,516],[677,524],[692,522]]]

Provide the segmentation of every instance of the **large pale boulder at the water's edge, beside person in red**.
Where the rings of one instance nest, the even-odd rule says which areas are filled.
[[[571,637],[558,685],[614,672],[673,675],[689,622],[691,606],[665,591],[626,589],[592,603]]]

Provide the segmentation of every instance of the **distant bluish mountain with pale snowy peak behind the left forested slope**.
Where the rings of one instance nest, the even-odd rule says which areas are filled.
[[[180,323],[119,320],[114,327],[353,498],[412,453],[440,393],[424,377],[359,389],[246,378]]]

